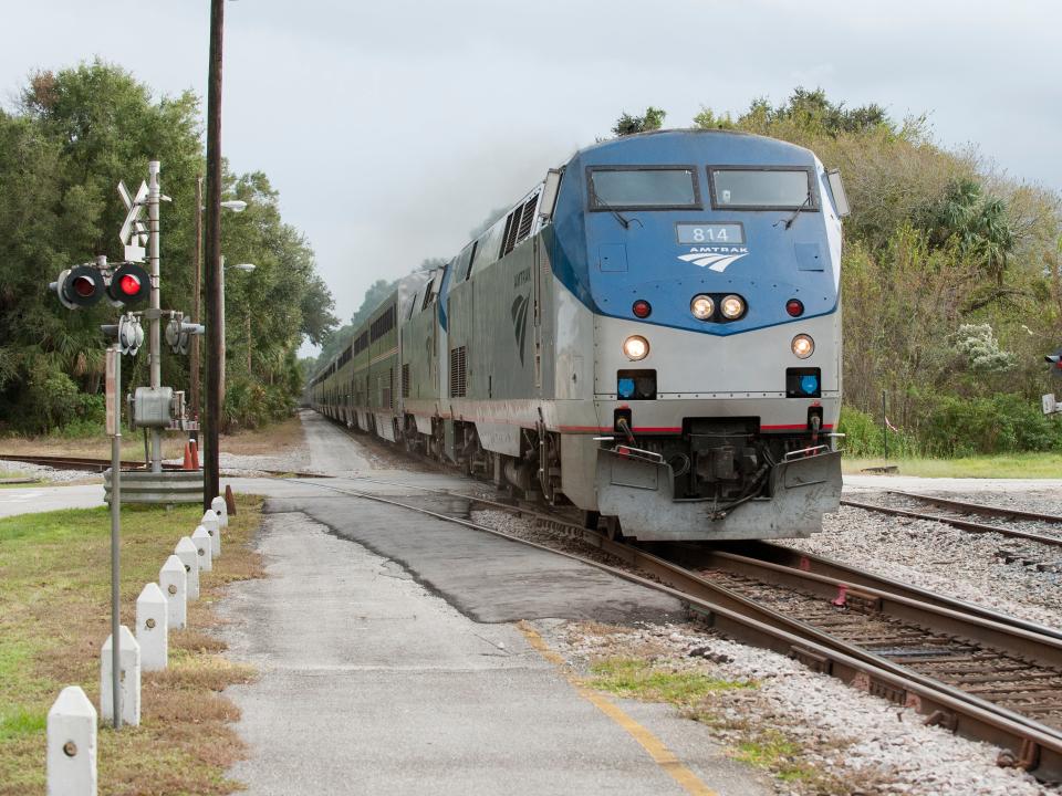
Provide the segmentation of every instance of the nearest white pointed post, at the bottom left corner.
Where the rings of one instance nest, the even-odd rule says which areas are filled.
[[[48,712],[48,796],[96,796],[96,709],[67,685]]]

